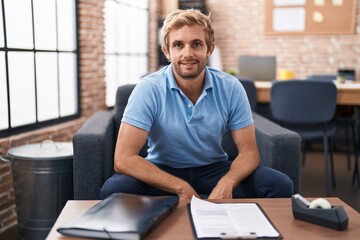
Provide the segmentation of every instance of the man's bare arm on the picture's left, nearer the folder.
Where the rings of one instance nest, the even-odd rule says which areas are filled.
[[[127,123],[121,123],[115,148],[114,168],[116,172],[132,176],[167,192],[179,195],[180,199],[190,199],[197,195],[184,180],[162,171],[150,161],[139,156],[146,142],[148,132]]]

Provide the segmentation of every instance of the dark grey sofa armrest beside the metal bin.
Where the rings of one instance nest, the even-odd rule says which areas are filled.
[[[74,199],[100,199],[100,189],[113,173],[115,139],[109,111],[96,112],[74,135]]]

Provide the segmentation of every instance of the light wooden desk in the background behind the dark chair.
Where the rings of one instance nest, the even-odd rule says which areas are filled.
[[[259,103],[270,102],[271,84],[271,81],[255,81]],[[338,90],[336,100],[338,105],[360,106],[360,82],[343,84],[335,83],[335,85]]]

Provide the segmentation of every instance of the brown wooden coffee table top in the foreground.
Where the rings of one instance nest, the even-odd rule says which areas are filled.
[[[257,202],[264,209],[284,239],[359,239],[360,214],[338,198],[327,198],[332,205],[342,205],[349,216],[349,226],[337,231],[311,223],[295,220],[291,211],[290,198],[274,199],[233,199],[221,202]],[[311,200],[311,199],[310,199]],[[47,239],[79,239],[59,234],[56,229],[89,209],[97,200],[68,201]],[[218,201],[219,202],[219,201]],[[83,239],[83,238],[81,238]],[[146,239],[186,240],[194,239],[186,204],[181,202],[176,210],[157,226]]]

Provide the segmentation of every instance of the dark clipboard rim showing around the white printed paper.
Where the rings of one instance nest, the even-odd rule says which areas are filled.
[[[218,204],[226,204],[226,203],[218,203]],[[242,204],[242,203],[236,203],[236,204]],[[279,234],[276,237],[267,237],[267,236],[257,236],[257,235],[253,235],[253,236],[249,236],[249,235],[239,235],[239,236],[226,236],[224,235],[224,237],[206,237],[206,238],[199,238],[197,233],[196,233],[196,229],[195,229],[195,224],[194,224],[194,220],[192,217],[192,213],[191,213],[191,204],[188,203],[186,205],[186,209],[188,211],[188,215],[189,215],[189,219],[190,219],[190,224],[191,224],[191,229],[194,235],[195,239],[202,239],[202,240],[206,240],[206,239],[283,239],[280,231],[276,228],[276,226],[273,224],[273,222],[271,221],[271,219],[267,216],[267,214],[265,213],[264,209],[261,207],[260,204],[256,203],[256,202],[251,202],[251,204],[255,204],[258,209],[261,211],[261,213],[264,215],[264,217],[266,218],[266,220],[270,223],[270,225],[275,229],[275,231]]]

